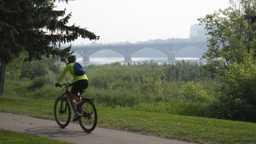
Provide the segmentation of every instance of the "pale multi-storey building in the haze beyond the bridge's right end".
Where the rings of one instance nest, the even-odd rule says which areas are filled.
[[[206,41],[207,36],[205,33],[207,33],[207,31],[204,28],[205,24],[194,24],[190,26],[190,41]]]

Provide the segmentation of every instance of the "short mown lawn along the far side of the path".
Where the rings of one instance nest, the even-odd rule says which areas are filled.
[[[54,100],[0,97],[0,112],[53,119]],[[199,143],[256,143],[256,123],[97,107],[99,127]],[[57,126],[57,124],[56,124]],[[82,131],[82,129],[81,129]]]

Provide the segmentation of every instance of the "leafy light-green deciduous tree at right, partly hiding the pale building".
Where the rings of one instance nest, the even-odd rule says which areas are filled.
[[[256,25],[250,18],[256,13],[255,0],[230,0],[230,7],[198,19],[208,31],[207,60],[210,70],[223,68],[233,62],[246,61],[256,50]],[[248,17],[249,16],[249,17]]]

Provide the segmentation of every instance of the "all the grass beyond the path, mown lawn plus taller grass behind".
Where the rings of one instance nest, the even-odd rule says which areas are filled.
[[[0,112],[54,120],[54,101],[63,91],[52,86],[29,88],[30,82],[6,80]],[[92,88],[86,94],[96,98],[99,127],[199,143],[256,143],[256,123],[180,115],[204,115],[207,104]]]

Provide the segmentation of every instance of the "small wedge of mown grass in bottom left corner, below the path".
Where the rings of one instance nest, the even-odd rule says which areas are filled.
[[[49,138],[0,130],[0,144],[71,144]]]

